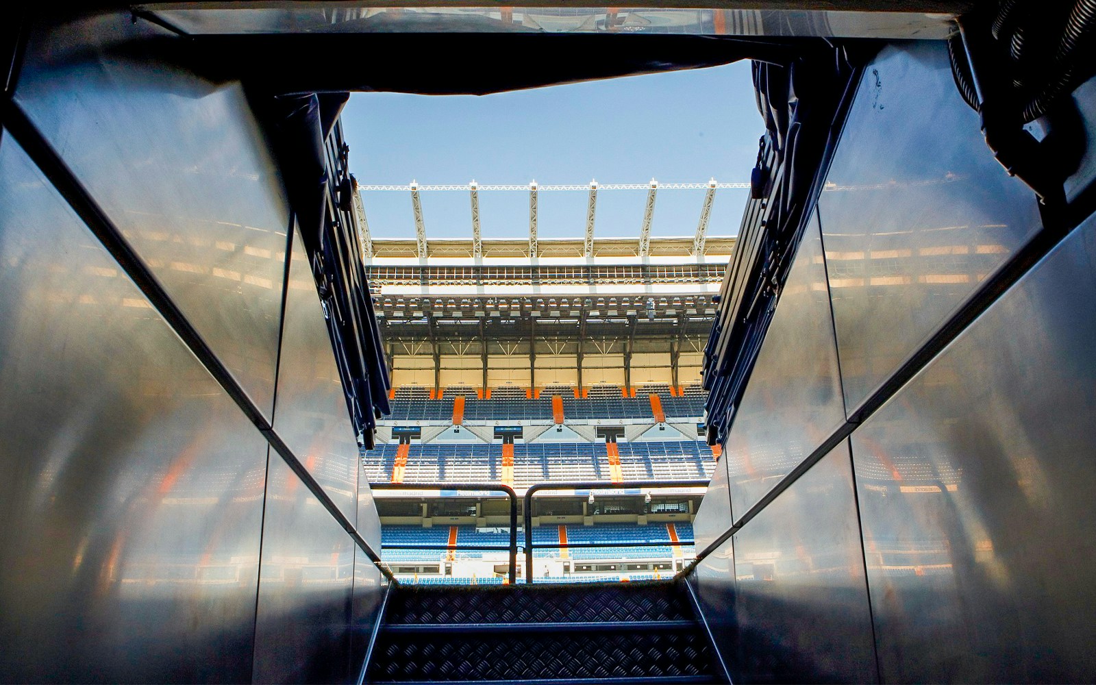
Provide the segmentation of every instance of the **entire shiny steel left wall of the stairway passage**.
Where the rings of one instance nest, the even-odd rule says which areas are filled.
[[[317,288],[283,329],[267,144],[157,31],[33,33],[3,109],[0,682],[353,680],[379,523]]]

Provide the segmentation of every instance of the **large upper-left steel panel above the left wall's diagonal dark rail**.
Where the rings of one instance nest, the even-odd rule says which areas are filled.
[[[16,100],[270,418],[287,201],[240,84],[165,64],[162,33],[128,11],[37,32]]]

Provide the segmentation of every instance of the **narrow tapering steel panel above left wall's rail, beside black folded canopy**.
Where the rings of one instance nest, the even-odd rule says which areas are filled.
[[[281,355],[274,430],[346,520],[356,521],[362,460],[323,308],[296,228],[286,282]]]

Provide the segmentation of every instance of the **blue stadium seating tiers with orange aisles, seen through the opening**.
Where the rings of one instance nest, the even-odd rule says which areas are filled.
[[[711,478],[720,449],[699,438],[704,400],[696,385],[397,388],[392,415],[378,430],[391,442],[363,450],[362,459],[372,482],[409,487],[490,483],[521,494],[535,483],[650,482],[651,489],[596,491],[615,502],[596,511],[594,491],[563,491],[564,514],[533,518],[534,581],[658,580],[695,555],[689,503],[650,496],[660,492],[658,483]],[[452,505],[460,494],[378,492],[381,558],[401,581],[509,582],[509,523],[483,516],[484,500],[461,500],[477,507],[476,518],[461,516],[469,512]],[[386,511],[392,500],[404,505],[402,516],[386,515],[396,513]],[[423,514],[409,516],[415,506]],[[524,535],[520,527],[518,539]],[[518,558],[524,563],[524,549]]]

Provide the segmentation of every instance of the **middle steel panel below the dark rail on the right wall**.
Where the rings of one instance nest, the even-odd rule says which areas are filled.
[[[877,680],[848,443],[734,535],[735,682]]]

